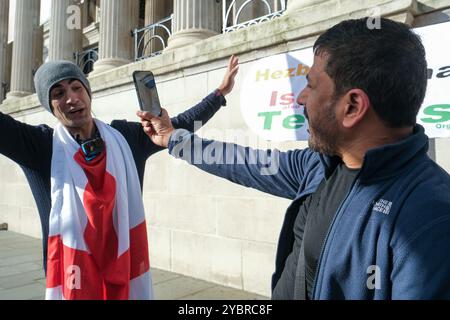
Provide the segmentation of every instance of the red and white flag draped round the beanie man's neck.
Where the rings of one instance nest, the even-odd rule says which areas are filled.
[[[95,123],[106,147],[91,162],[67,129],[54,132],[46,299],[152,299],[136,165],[125,138]]]

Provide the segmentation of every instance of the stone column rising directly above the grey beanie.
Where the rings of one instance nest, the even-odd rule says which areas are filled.
[[[74,61],[81,51],[81,8],[77,0],[52,0],[49,60]]]

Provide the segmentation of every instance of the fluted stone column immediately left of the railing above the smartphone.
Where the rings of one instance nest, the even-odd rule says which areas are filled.
[[[108,71],[134,60],[131,31],[139,24],[138,0],[100,2],[99,60],[92,74]]]

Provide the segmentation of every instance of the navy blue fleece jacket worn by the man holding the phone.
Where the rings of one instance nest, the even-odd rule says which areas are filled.
[[[428,137],[417,125],[407,139],[366,153],[328,230],[314,299],[450,299],[450,176],[427,150]],[[172,135],[169,152],[211,174],[293,200],[280,233],[273,289],[293,248],[300,205],[340,159],[310,149],[253,150],[182,129]]]

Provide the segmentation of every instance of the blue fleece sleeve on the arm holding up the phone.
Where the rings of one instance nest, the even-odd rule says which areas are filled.
[[[172,134],[169,153],[205,172],[288,199],[295,198],[299,190],[309,154],[308,149],[254,150],[201,139],[183,129]]]

